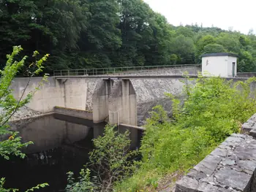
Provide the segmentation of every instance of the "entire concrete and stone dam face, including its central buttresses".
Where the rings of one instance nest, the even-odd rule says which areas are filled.
[[[141,72],[119,75],[118,78],[48,77],[48,82],[44,82],[26,107],[42,114],[53,112],[57,107],[59,111],[69,110],[69,115],[92,119],[94,123],[107,121],[138,126],[157,104],[170,111],[171,101],[165,98],[165,93],[181,95],[184,82],[178,77],[161,78],[161,74],[197,74],[197,71],[200,71],[198,66],[190,66],[146,72],[146,77]],[[41,80],[42,77],[31,78],[26,88],[29,78],[15,78],[12,82],[15,98],[20,99],[23,91],[26,96]]]

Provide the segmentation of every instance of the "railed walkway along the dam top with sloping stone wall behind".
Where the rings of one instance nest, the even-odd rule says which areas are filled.
[[[56,70],[53,76],[57,79],[62,77],[75,78],[143,78],[143,77],[184,77],[184,69],[188,69],[188,74],[197,74],[201,69],[200,64],[191,65],[170,65],[170,66],[127,66],[115,68],[97,68],[97,69],[66,69]],[[136,74],[136,75],[135,75]],[[145,76],[146,75],[146,76]],[[148,76],[151,75],[151,76]]]

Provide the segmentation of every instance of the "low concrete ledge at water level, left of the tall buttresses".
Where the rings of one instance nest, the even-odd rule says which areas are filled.
[[[69,115],[74,116],[77,118],[84,118],[86,120],[93,120],[92,118],[92,112],[86,111],[86,110],[75,110],[75,109],[69,109],[65,107],[54,107],[53,112],[61,114],[61,115]]]

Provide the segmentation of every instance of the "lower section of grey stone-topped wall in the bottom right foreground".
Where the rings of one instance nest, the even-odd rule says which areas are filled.
[[[176,192],[256,191],[256,140],[232,134],[176,183]]]

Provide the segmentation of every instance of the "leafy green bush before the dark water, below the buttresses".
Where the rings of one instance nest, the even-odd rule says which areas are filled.
[[[130,160],[137,152],[129,150],[129,131],[118,134],[113,126],[107,125],[104,136],[93,142],[95,149],[90,153],[87,164],[91,171],[82,169],[78,182],[75,182],[73,173],[69,172],[67,192],[111,191],[115,183],[134,172],[135,165]]]

